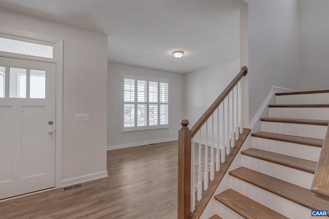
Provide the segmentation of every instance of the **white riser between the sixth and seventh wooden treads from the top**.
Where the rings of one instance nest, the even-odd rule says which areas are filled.
[[[309,218],[310,209],[231,176],[230,187],[290,218]]]

